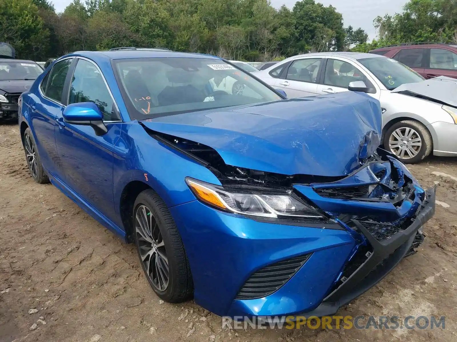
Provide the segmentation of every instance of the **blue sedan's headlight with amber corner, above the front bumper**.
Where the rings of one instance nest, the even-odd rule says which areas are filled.
[[[287,192],[232,191],[191,178],[186,183],[200,201],[223,211],[264,218],[324,218]]]

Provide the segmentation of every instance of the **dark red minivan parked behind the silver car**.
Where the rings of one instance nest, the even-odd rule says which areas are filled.
[[[370,51],[396,59],[425,78],[457,78],[457,45],[441,43],[407,43],[389,45]]]

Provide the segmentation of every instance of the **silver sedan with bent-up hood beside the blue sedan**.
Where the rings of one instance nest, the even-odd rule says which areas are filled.
[[[386,149],[410,164],[430,153],[457,156],[457,80],[424,81],[398,61],[358,52],[294,56],[253,74],[289,98],[348,91],[362,81],[381,102]]]

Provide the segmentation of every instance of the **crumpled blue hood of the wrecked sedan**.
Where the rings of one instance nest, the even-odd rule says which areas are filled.
[[[141,122],[210,146],[228,165],[284,175],[343,176],[377,149],[381,121],[376,99],[344,92]]]

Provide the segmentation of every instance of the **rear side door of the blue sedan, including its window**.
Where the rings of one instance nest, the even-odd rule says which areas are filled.
[[[38,153],[44,168],[57,178],[63,179],[61,164],[56,150],[54,128],[56,118],[62,115],[62,94],[73,58],[57,62],[44,76],[38,93],[31,93],[27,105],[30,107],[30,124],[35,135]]]

